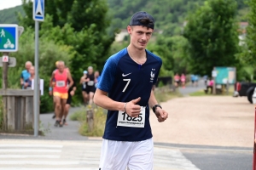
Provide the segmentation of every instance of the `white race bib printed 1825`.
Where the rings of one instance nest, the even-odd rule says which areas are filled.
[[[141,106],[141,113],[138,117],[131,117],[125,111],[119,111],[117,126],[119,127],[144,127],[145,126],[145,109]]]

